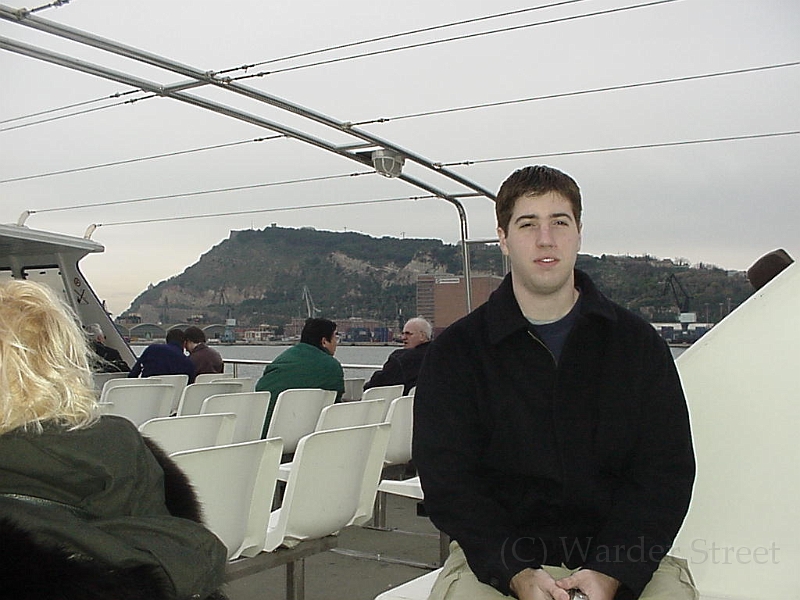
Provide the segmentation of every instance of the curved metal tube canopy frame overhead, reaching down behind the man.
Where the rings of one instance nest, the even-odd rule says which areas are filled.
[[[205,110],[238,119],[240,121],[256,125],[257,127],[262,127],[279,133],[287,138],[298,140],[306,144],[316,146],[322,150],[338,154],[339,156],[356,161],[362,165],[373,167],[372,153],[374,151],[389,151],[392,154],[403,157],[405,160],[422,166],[425,169],[424,172],[435,174],[437,176],[443,176],[446,179],[449,179],[450,181],[462,186],[466,191],[462,193],[448,193],[440,189],[438,186],[418,177],[402,172],[397,175],[397,179],[401,179],[402,181],[405,181],[406,183],[442,200],[445,200],[455,206],[459,219],[460,246],[466,291],[466,308],[468,312],[472,310],[472,281],[469,260],[470,241],[467,226],[467,213],[460,201],[460,198],[485,197],[488,200],[494,201],[495,196],[491,191],[473,181],[470,181],[458,173],[435,164],[433,161],[425,158],[424,156],[416,154],[407,148],[400,147],[388,140],[359,129],[348,122],[339,121],[304,106],[289,102],[283,98],[279,98],[256,88],[232,81],[230,78],[220,77],[213,72],[203,71],[201,69],[197,69],[195,67],[146,52],[144,50],[120,44],[113,40],[34,16],[26,9],[15,9],[0,4],[0,18],[80,44],[91,46],[117,56],[145,63],[150,66],[166,70],[170,73],[187,77],[188,80],[169,85],[163,85],[129,73],[93,64],[74,57],[0,36],[0,48],[3,50],[28,56],[30,58],[35,58],[51,64],[57,64],[69,69],[101,77],[103,79],[116,81],[123,85],[128,85],[145,92],[172,98],[174,100],[191,104]],[[331,141],[310,135],[306,132],[288,127],[262,116],[240,110],[234,106],[212,101],[187,92],[187,90],[196,89],[203,86],[215,86],[228,92],[247,97],[251,100],[256,100],[257,102],[268,104],[294,115],[298,115],[304,119],[314,121],[324,125],[325,127],[333,129],[338,133],[343,133],[347,136],[350,136],[353,138],[353,143],[345,145],[335,144]]]

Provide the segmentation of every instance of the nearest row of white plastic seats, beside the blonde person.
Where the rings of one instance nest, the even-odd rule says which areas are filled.
[[[275,510],[280,438],[172,454],[208,527],[228,548],[228,580],[286,565],[286,597],[302,600],[304,558],[335,547],[341,529],[371,518],[390,428],[380,423],[304,436]]]

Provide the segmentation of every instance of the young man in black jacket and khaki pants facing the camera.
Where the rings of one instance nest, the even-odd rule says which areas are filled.
[[[695,598],[666,556],[695,468],[669,348],[575,269],[572,178],[516,171],[496,215],[511,273],[417,381],[414,462],[454,540],[431,598]]]

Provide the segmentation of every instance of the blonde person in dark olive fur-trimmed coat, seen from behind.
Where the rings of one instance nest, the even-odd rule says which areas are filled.
[[[0,284],[0,581],[7,597],[224,598],[226,549],[185,475],[101,416],[92,352],[49,288]]]

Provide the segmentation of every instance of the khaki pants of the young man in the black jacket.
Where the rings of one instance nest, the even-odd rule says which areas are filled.
[[[561,579],[575,569],[543,567],[554,579]],[[496,589],[477,580],[467,565],[464,551],[456,542],[450,543],[450,556],[433,584],[428,600],[502,600],[508,598]],[[640,600],[697,600],[699,594],[689,573],[686,561],[666,556],[647,584]]]

